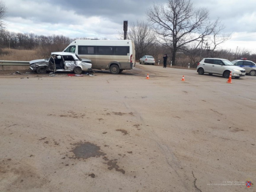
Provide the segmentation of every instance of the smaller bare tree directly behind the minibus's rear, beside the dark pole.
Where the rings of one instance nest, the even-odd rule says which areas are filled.
[[[119,32],[120,39],[123,39],[123,32]],[[135,45],[136,60],[148,54],[150,47],[155,43],[155,33],[146,21],[137,20],[128,27],[127,39],[132,40]]]

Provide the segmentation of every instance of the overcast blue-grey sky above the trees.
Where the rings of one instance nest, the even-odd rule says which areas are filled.
[[[223,33],[232,38],[222,45],[233,50],[256,50],[256,0],[191,0],[195,7],[206,7],[210,18],[220,17]],[[128,27],[146,20],[146,10],[154,2],[166,0],[2,0],[7,7],[7,29],[16,33],[64,35],[70,38],[117,39],[123,20]]]

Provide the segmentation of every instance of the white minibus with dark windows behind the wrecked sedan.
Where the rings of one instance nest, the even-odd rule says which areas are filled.
[[[76,53],[82,60],[90,59],[92,69],[110,70],[112,74],[135,67],[135,46],[131,40],[75,40],[64,52]]]

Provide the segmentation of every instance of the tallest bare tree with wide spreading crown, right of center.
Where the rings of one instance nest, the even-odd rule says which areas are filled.
[[[172,51],[173,65],[180,49],[210,35],[219,24],[219,20],[211,22],[206,8],[195,8],[190,0],[167,0],[166,7],[154,4],[147,15],[158,41]]]

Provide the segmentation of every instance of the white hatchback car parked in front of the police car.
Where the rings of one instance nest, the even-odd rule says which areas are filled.
[[[218,58],[204,58],[199,63],[197,63],[197,72],[199,75],[204,73],[219,74],[226,78],[229,78],[230,71],[232,76],[235,78],[240,78],[245,76],[245,70],[242,67],[235,66],[227,59]]]

